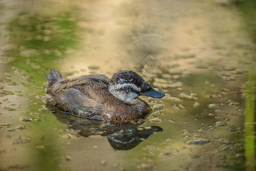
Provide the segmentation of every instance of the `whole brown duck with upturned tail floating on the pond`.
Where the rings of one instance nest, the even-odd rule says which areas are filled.
[[[44,75],[48,79],[46,103],[86,119],[136,121],[152,111],[140,95],[157,99],[165,95],[134,71],[118,71],[112,78],[91,74],[63,79],[54,69]]]

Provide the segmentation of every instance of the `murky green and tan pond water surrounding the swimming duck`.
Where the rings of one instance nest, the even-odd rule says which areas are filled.
[[[0,170],[255,170],[254,1],[0,1]],[[48,108],[44,72],[133,70],[165,97],[113,125]]]

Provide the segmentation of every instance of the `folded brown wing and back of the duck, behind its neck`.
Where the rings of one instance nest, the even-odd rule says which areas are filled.
[[[47,88],[47,94],[54,101],[52,105],[63,111],[87,117],[100,115],[105,109],[102,96],[110,93],[109,80],[107,76],[98,74],[71,78]]]

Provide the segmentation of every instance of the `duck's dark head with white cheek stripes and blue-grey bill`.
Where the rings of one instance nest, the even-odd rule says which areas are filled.
[[[153,89],[139,74],[133,71],[116,72],[109,84],[109,92],[117,99],[131,101],[139,95],[161,98],[164,93]]]

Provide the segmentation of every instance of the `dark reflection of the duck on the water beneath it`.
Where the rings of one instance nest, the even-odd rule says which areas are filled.
[[[130,124],[117,124],[71,116],[49,105],[47,105],[47,108],[50,109],[60,123],[68,125],[68,129],[74,129],[84,137],[93,135],[107,136],[109,144],[117,150],[135,148],[153,133],[162,132],[162,128],[155,125],[139,127],[144,123],[144,120]]]

